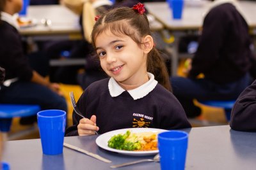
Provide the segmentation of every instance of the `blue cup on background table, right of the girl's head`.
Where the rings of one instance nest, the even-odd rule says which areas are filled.
[[[184,0],[168,0],[168,4],[172,8],[172,18],[180,20],[182,18]]]

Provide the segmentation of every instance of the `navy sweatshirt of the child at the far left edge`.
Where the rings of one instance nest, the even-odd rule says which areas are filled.
[[[5,80],[18,77],[30,81],[33,69],[22,49],[17,29],[5,21],[0,22],[0,67],[5,69]]]

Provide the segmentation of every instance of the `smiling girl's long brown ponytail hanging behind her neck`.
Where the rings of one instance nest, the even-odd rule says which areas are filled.
[[[163,87],[170,92],[172,92],[172,87],[170,84],[170,79],[166,65],[160,53],[157,51],[156,47],[153,47],[150,53],[148,53],[147,59],[147,71],[154,74],[155,79],[163,85]]]

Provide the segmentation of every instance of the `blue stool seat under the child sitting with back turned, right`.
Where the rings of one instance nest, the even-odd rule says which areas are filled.
[[[198,101],[205,106],[211,106],[216,108],[223,108],[225,110],[225,116],[228,122],[230,122],[231,110],[236,101]]]

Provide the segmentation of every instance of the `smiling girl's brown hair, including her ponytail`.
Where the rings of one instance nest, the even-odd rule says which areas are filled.
[[[142,37],[151,35],[147,15],[140,15],[138,11],[127,7],[115,8],[97,20],[91,35],[94,48],[95,39],[104,31],[111,31],[117,36],[120,34],[130,36],[138,45],[141,45]],[[147,71],[154,74],[163,87],[172,91],[166,66],[156,47],[148,53]]]

